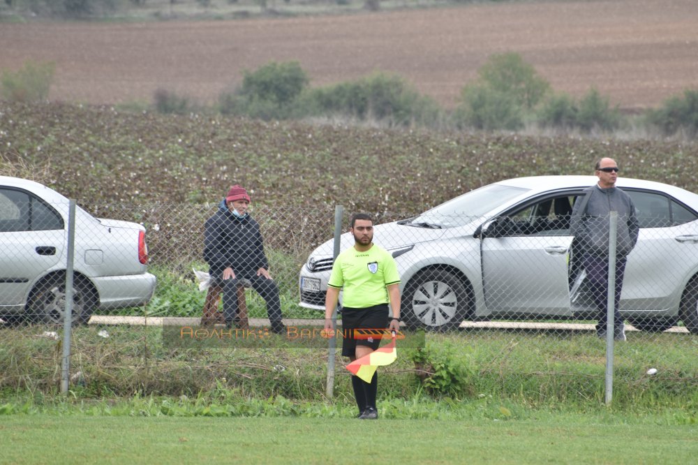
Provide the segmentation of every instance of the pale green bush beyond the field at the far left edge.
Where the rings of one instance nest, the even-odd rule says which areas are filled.
[[[19,71],[3,71],[0,78],[2,96],[11,102],[35,102],[48,98],[55,64],[25,61]]]

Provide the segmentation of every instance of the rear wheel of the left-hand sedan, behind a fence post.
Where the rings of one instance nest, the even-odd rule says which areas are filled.
[[[89,321],[97,306],[94,288],[84,279],[73,282],[73,323]],[[37,284],[29,301],[30,318],[41,323],[62,324],[66,313],[66,278],[53,276]]]

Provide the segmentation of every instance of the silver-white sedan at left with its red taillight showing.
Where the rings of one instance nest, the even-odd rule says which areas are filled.
[[[66,303],[68,199],[43,184],[0,177],[0,318],[60,323]],[[77,207],[73,259],[73,320],[96,308],[150,300],[145,228],[97,219]]]

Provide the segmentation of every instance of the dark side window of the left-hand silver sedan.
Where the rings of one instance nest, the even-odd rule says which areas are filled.
[[[0,189],[0,232],[63,228],[61,216],[34,195],[14,189]]]

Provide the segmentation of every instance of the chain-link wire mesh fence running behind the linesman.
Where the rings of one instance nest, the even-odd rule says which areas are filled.
[[[662,374],[677,389],[695,388],[697,219],[671,200],[651,210],[649,200],[636,199],[634,246],[625,239],[609,243],[614,223],[608,217],[589,223],[605,235],[604,250],[617,246],[614,261],[572,235],[574,201],[547,198],[498,218],[375,214],[374,242],[392,252],[401,273],[406,334],[426,329],[428,344],[438,344],[441,333],[456,337],[456,355],[475,378],[496,373],[515,380],[500,390],[516,390],[543,374],[549,377],[541,388],[545,397],[565,375],[582,373],[595,395],[603,392],[607,342],[615,344],[615,382],[630,395]],[[287,367],[289,360],[274,348],[308,347],[320,350],[311,363],[317,389],[324,390],[327,344],[312,328],[322,325],[334,207],[255,206],[242,219],[215,202],[83,207],[75,214],[72,385],[102,393],[196,392],[221,379],[231,383],[237,376],[244,383],[255,370]],[[0,192],[5,387],[57,385],[70,294],[68,211],[64,200]],[[96,219],[103,216],[114,220]],[[618,218],[618,224],[627,225],[627,219]],[[341,250],[352,244],[345,232]],[[616,280],[608,279],[609,263]],[[235,279],[221,279],[228,268]],[[273,280],[263,272],[258,276],[260,269]],[[200,289],[195,271],[211,271],[208,288]],[[607,325],[609,287],[620,290],[620,316]],[[277,312],[285,327],[275,327]],[[163,333],[170,325],[177,330]],[[308,337],[283,342],[289,328]],[[606,338],[607,330],[612,337]],[[280,337],[269,337],[274,332]],[[173,344],[223,334],[235,342],[222,348]],[[240,344],[235,334],[246,334],[246,344],[253,337],[252,344]],[[423,359],[414,363],[417,371],[410,376],[423,381],[433,374]],[[274,374],[275,392],[299,389],[284,385],[281,372]],[[579,395],[589,389],[580,386]]]

